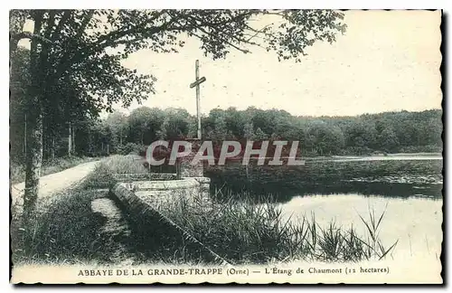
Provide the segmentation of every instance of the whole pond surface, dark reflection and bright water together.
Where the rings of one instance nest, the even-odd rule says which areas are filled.
[[[441,156],[353,156],[306,159],[297,167],[226,165],[206,175],[218,200],[236,194],[259,204],[271,194],[290,221],[315,213],[320,225],[334,221],[364,233],[359,215],[368,220],[370,211],[384,212],[381,241],[388,247],[399,241],[391,257],[436,261],[443,240],[442,168]]]

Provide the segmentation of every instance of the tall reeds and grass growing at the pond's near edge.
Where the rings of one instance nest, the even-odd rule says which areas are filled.
[[[225,197],[224,195],[222,196]],[[384,212],[361,217],[366,234],[334,221],[325,227],[315,213],[300,221],[284,220],[278,204],[243,201],[246,194],[228,196],[222,203],[189,202],[181,196],[162,208],[179,226],[233,264],[275,263],[293,260],[381,260],[391,254],[397,241],[384,245],[378,237]]]

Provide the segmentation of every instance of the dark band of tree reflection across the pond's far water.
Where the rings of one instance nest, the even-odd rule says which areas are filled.
[[[268,194],[279,203],[312,194],[363,194],[393,198],[442,197],[442,160],[307,161],[304,166],[268,167],[226,165],[209,168],[211,192],[265,201]],[[218,191],[221,190],[221,193]]]

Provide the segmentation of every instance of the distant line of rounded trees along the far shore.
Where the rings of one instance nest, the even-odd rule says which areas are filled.
[[[14,106],[14,103],[13,103]],[[11,108],[11,155],[24,160],[25,113]],[[303,156],[369,155],[442,151],[442,112],[386,112],[358,117],[296,117],[278,109],[212,109],[202,118],[202,137],[298,140]],[[102,156],[140,152],[157,139],[196,137],[196,118],[185,109],[141,107],[129,116],[44,120],[43,156]]]

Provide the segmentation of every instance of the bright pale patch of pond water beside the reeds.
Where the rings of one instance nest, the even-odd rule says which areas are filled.
[[[365,197],[361,194],[336,194],[333,198],[324,195],[294,197],[281,205],[286,219],[298,221],[305,216],[326,227],[334,221],[339,227],[353,227],[365,235],[365,226],[360,215],[369,221],[369,212],[377,216],[384,213],[380,238],[386,247],[398,241],[392,257],[408,259],[426,257],[439,259],[443,240],[441,223],[442,201],[428,198]]]

